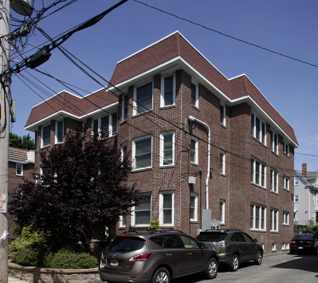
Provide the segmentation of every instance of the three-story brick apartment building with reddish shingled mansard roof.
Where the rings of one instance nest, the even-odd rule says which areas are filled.
[[[249,232],[266,253],[289,248],[292,127],[246,75],[227,79],[179,32],[119,61],[108,90],[63,91],[34,106],[25,129],[35,132],[35,166],[82,125],[130,153],[128,183],[148,196],[117,233],[158,219],[196,236],[213,221]]]

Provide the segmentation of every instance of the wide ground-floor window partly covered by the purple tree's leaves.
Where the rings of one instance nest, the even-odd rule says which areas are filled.
[[[148,226],[151,220],[151,195],[147,195],[145,200],[133,207],[132,212],[133,226]]]

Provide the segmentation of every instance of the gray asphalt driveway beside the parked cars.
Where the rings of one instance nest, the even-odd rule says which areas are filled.
[[[238,271],[220,266],[215,279],[204,280],[200,274],[172,280],[171,283],[318,283],[318,256],[279,253],[263,257],[261,265],[241,263]],[[98,282],[96,282],[98,283]],[[100,283],[100,282],[99,282]]]

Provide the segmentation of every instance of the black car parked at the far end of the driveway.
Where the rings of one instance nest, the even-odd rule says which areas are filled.
[[[311,252],[318,254],[318,234],[297,234],[290,242],[290,254]]]

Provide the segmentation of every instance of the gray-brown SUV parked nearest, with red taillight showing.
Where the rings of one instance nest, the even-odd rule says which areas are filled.
[[[134,231],[116,236],[101,254],[101,281],[170,283],[173,278],[202,272],[216,277],[217,252],[176,230]]]

